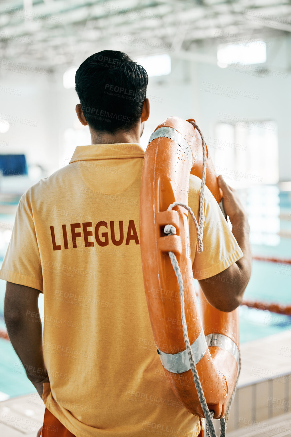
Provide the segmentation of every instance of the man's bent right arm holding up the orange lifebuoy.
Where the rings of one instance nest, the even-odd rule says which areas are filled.
[[[225,183],[221,175],[218,177],[218,184],[223,191],[226,215],[233,225],[233,236],[243,252],[243,257],[223,272],[200,280],[199,285],[205,298],[214,308],[230,312],[241,304],[243,293],[250,280],[252,269],[250,226],[237,192]]]

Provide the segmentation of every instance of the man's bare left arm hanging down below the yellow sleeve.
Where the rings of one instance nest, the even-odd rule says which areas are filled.
[[[24,365],[27,378],[42,398],[42,383],[48,382],[48,372],[43,356],[39,293],[35,288],[7,282],[4,319],[11,344]]]

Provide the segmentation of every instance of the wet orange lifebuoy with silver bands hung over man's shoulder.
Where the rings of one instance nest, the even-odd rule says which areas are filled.
[[[168,252],[177,257],[184,284],[188,337],[207,406],[217,419],[226,413],[238,374],[238,310],[221,312],[204,299],[201,321],[189,250],[188,212],[181,206],[167,211],[173,202],[188,205],[190,173],[202,177],[202,139],[192,121],[167,118],[151,135],[140,188],[140,250],[151,326],[165,374],[185,408],[204,417],[183,333],[167,323],[168,318],[181,322],[180,303],[165,300],[160,294],[162,290],[179,293]],[[219,202],[222,194],[207,149],[206,156],[206,185]],[[175,226],[176,235],[166,236],[165,225]],[[178,380],[175,374],[179,374]]]

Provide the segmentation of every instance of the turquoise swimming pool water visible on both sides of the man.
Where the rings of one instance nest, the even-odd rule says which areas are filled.
[[[266,195],[266,193],[268,194],[267,190],[268,187],[265,187],[263,195],[259,195],[259,201],[250,199],[248,203],[247,196],[244,200],[251,226],[250,240],[253,255],[291,259],[291,193],[279,193],[277,187],[271,187],[270,196],[268,196]],[[270,199],[273,202],[271,205]],[[255,202],[255,207],[253,207],[253,202]],[[260,208],[257,205],[260,205]],[[3,217],[0,216],[0,222],[1,219],[3,221]],[[12,217],[12,222],[13,219]],[[8,222],[7,217],[6,222]],[[278,236],[278,231],[289,232],[290,237]],[[3,321],[5,286],[6,283],[0,280],[0,328],[5,326]],[[244,298],[251,301],[290,304],[290,289],[290,264],[254,260],[252,275]],[[43,303],[40,301],[41,311],[43,311]],[[249,309],[245,306],[240,307],[241,343],[276,334],[286,329],[291,329],[291,317]],[[31,382],[26,378],[21,362],[11,344],[0,339],[0,351],[0,392],[16,396],[35,391]]]

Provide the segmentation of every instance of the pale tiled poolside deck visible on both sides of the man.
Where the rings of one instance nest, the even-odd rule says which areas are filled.
[[[291,331],[243,343],[241,358],[228,437],[291,435]],[[44,412],[37,393],[0,402],[0,435],[35,437]]]

